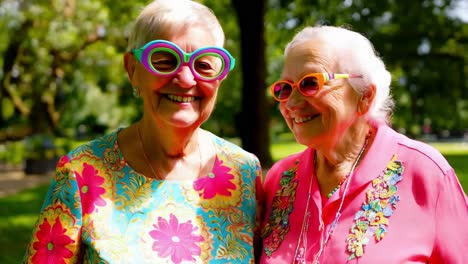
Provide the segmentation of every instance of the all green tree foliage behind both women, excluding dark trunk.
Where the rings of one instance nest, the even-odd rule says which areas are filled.
[[[132,96],[122,56],[131,21],[147,2],[2,1],[0,80],[6,86],[0,89],[0,129],[31,124],[35,133],[73,137],[85,131],[92,136],[137,120],[141,101]],[[235,137],[241,101],[250,96],[241,94],[240,65],[249,58],[240,57],[238,18],[231,2],[200,2],[219,18],[225,47],[237,60],[204,127]],[[468,25],[449,15],[461,0],[267,3],[267,97],[268,84],[281,76],[284,47],[298,30],[346,25],[371,39],[393,74],[396,128],[418,134],[425,120],[435,133],[461,134],[468,128]],[[15,41],[20,44],[17,53],[7,52]],[[288,128],[277,104],[270,102],[275,136]]]

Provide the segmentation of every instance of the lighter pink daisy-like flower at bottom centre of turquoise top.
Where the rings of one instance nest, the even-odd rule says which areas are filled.
[[[195,235],[197,227],[191,221],[179,223],[179,220],[171,214],[169,222],[158,218],[158,224],[153,225],[154,230],[150,231],[150,236],[155,240],[153,251],[158,252],[160,257],[171,257],[172,262],[195,261],[193,255],[200,256],[201,249],[196,242],[203,241],[203,237]]]

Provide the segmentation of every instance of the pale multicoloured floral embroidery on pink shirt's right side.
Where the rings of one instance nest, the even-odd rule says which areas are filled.
[[[364,255],[364,247],[369,243],[370,237],[374,236],[376,242],[379,242],[387,232],[388,218],[400,201],[396,185],[402,180],[404,171],[403,163],[396,159],[395,154],[383,174],[372,181],[372,189],[367,191],[367,202],[364,202],[362,210],[354,216],[355,224],[346,239],[347,250],[351,254],[348,260]]]

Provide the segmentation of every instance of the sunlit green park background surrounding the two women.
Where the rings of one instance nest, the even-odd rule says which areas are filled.
[[[264,169],[297,145],[268,85],[306,25],[368,37],[392,73],[392,127],[449,160],[468,191],[468,0],[203,0],[236,67],[203,127]],[[148,1],[0,0],[0,179],[50,176],[73,147],[138,120],[123,68],[131,20]],[[46,184],[0,198],[0,263],[19,263]]]

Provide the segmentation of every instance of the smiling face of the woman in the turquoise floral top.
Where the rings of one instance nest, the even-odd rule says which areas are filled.
[[[186,53],[215,45],[212,34],[200,27],[177,32],[167,40]],[[139,89],[144,102],[144,115],[152,116],[160,126],[178,128],[197,128],[208,119],[214,109],[221,80],[197,80],[188,66],[183,66],[174,76],[158,77],[130,53],[125,56],[130,82]]]

